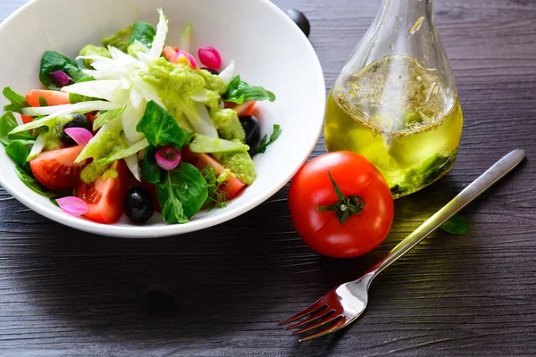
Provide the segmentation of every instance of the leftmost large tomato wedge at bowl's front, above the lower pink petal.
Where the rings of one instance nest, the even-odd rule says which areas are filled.
[[[88,163],[74,163],[83,146],[72,146],[59,150],[46,151],[29,162],[34,176],[43,186],[54,191],[76,187],[80,171]]]

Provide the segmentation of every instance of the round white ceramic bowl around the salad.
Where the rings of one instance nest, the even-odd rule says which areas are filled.
[[[289,182],[311,154],[322,129],[322,68],[303,33],[267,0],[33,0],[0,25],[0,86],[22,94],[41,87],[39,61],[46,50],[74,58],[82,46],[99,44],[99,38],[134,21],[156,25],[158,7],[169,19],[168,45],[179,44],[181,30],[192,21],[195,48],[218,48],[224,62],[236,61],[242,79],[277,95],[274,103],[260,104],[261,125],[263,135],[271,133],[275,123],[281,124],[283,133],[266,154],[255,157],[255,183],[227,208],[200,212],[187,224],[167,225],[157,215],[144,226],[131,225],[126,217],[117,224],[101,225],[71,217],[31,191],[0,148],[0,186],[33,211],[104,236],[179,235],[231,220],[263,203]]]

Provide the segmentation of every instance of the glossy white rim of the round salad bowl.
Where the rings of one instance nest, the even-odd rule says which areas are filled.
[[[0,31],[4,28],[5,24],[9,21],[14,21],[16,18],[21,14],[21,12],[26,11],[29,7],[31,7],[33,4],[37,4],[39,2],[43,2],[46,0],[29,0],[28,3],[23,4],[19,9],[15,10],[11,15],[9,15],[7,18],[0,23]],[[250,0],[254,1],[254,0]],[[316,146],[318,139],[320,138],[322,134],[322,125],[323,125],[323,117],[325,112],[325,105],[326,105],[326,92],[325,92],[325,79],[322,71],[322,64],[320,62],[320,59],[318,58],[318,55],[314,51],[314,47],[309,42],[309,39],[306,37],[306,35],[297,27],[297,25],[290,20],[289,16],[285,12],[283,12],[277,5],[272,4],[269,0],[256,0],[259,3],[264,4],[265,6],[268,6],[272,9],[272,11],[278,13],[280,17],[283,18],[283,21],[287,21],[289,24],[291,24],[296,30],[299,32],[299,37],[301,37],[302,41],[306,41],[306,48],[308,51],[308,55],[311,56],[312,60],[314,61],[314,65],[316,67],[316,71],[314,71],[314,81],[317,82],[318,85],[318,100],[321,103],[319,116],[322,116],[321,120],[318,120],[317,122],[317,128],[316,128],[316,135],[314,137],[311,137],[311,141],[308,143],[308,150],[306,151],[306,157],[302,159],[302,162],[300,163],[297,168],[289,172],[289,175],[285,178],[284,181],[273,185],[272,187],[268,187],[268,189],[265,190],[264,194],[258,195],[254,200],[251,200],[247,203],[244,203],[236,208],[231,209],[230,211],[223,212],[222,214],[218,214],[214,217],[208,217],[203,218],[199,220],[191,220],[188,223],[185,224],[170,224],[170,225],[163,225],[163,226],[116,226],[114,224],[100,224],[96,222],[92,222],[90,220],[81,220],[80,218],[72,217],[70,215],[67,215],[63,212],[57,212],[53,210],[47,210],[46,207],[42,207],[38,204],[34,204],[34,202],[31,200],[30,196],[27,195],[21,195],[19,192],[17,192],[16,189],[14,189],[9,182],[3,182],[2,177],[0,176],[0,185],[4,187],[4,189],[13,197],[15,197],[19,202],[27,206],[29,209],[31,209],[34,212],[39,213],[40,215],[50,219],[54,220],[57,223],[63,224],[64,226],[68,226],[71,228],[75,228],[78,230],[82,230],[91,234],[96,234],[99,236],[105,236],[105,237],[125,237],[125,238],[157,238],[157,237],[171,237],[171,236],[178,236],[185,233],[194,232],[197,230],[205,229],[205,228],[211,228],[214,226],[217,226],[223,222],[226,222],[228,220],[235,219],[239,217],[240,215],[251,211],[256,206],[258,206],[261,203],[264,203],[268,198],[272,197],[272,195],[276,194],[278,191],[281,190],[282,187],[285,187],[285,185],[294,177],[294,175],[297,173],[297,170],[301,168],[301,166],[306,162],[307,158],[311,153],[313,153],[314,147]],[[313,140],[314,139],[314,140]],[[37,195],[37,194],[36,194]]]

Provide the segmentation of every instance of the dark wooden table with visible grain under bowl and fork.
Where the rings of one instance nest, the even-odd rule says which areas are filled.
[[[24,2],[0,1],[0,20]],[[329,87],[379,6],[275,3],[306,12]],[[459,159],[440,182],[397,201],[381,248],[353,260],[311,252],[289,218],[287,188],[229,223],[158,240],[65,228],[0,190],[0,353],[535,355],[536,2],[438,0],[436,12],[465,111]],[[352,328],[304,344],[278,328],[359,277],[515,148],[528,161],[465,210],[472,232],[437,232],[386,270]],[[321,139],[314,155],[323,152]]]

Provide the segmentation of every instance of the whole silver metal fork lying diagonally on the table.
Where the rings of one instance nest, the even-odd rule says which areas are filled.
[[[373,268],[367,270],[363,277],[331,289],[328,294],[322,296],[316,303],[291,318],[281,321],[280,325],[286,325],[307,317],[306,320],[287,326],[287,329],[300,328],[294,331],[293,335],[305,334],[300,338],[300,342],[331,334],[340,328],[347,327],[364,312],[368,303],[369,286],[381,271],[396,262],[398,258],[419,244],[425,237],[428,237],[431,232],[440,228],[443,223],[464,209],[467,204],[471,203],[499,179],[505,177],[515,166],[523,162],[524,156],[524,150],[515,150],[507,154],[484,172],[481,177],[475,179],[468,187],[465,187],[459,195],[456,195],[440,211],[426,220],[415,232],[394,247]]]

